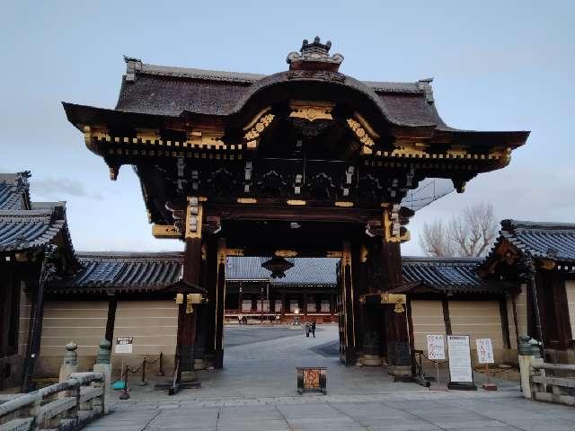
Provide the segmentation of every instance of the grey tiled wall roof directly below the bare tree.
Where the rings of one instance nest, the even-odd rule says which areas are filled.
[[[403,257],[403,281],[438,292],[499,294],[509,286],[484,280],[475,272],[482,258]]]

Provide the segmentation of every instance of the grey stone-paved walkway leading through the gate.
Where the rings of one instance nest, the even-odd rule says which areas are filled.
[[[575,409],[524,400],[517,390],[429,391],[393,383],[382,367],[344,367],[311,348],[316,339],[254,329],[226,329],[225,370],[201,372],[202,389],[169,397],[152,385],[133,387],[130,400],[88,431],[191,430],[573,430]],[[250,329],[252,330],[252,329]],[[234,332],[235,331],[235,332]],[[236,344],[238,337],[243,338]],[[277,338],[279,337],[279,338]],[[235,338],[235,341],[234,341]],[[296,365],[328,366],[328,395],[295,395]],[[510,385],[509,389],[514,388]]]

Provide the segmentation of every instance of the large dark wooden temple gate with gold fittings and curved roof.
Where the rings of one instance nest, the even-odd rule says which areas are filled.
[[[403,287],[403,198],[427,178],[463,192],[525,143],[526,132],[449,128],[430,80],[362,83],[330,47],[304,40],[288,71],[267,76],[127,57],[115,110],[64,103],[111,180],[134,166],[155,237],[185,242],[171,287],[180,371],[193,357],[223,366],[226,256],[316,256],[341,258],[342,361],[369,346],[410,374],[406,312],[380,301]]]

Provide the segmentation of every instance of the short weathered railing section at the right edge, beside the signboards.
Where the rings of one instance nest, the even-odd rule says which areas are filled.
[[[534,400],[575,406],[575,365],[533,363],[531,367]]]

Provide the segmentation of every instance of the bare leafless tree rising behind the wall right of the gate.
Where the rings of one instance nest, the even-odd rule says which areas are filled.
[[[482,202],[464,208],[447,223],[423,224],[420,246],[428,256],[480,257],[489,251],[498,232],[493,206]]]

